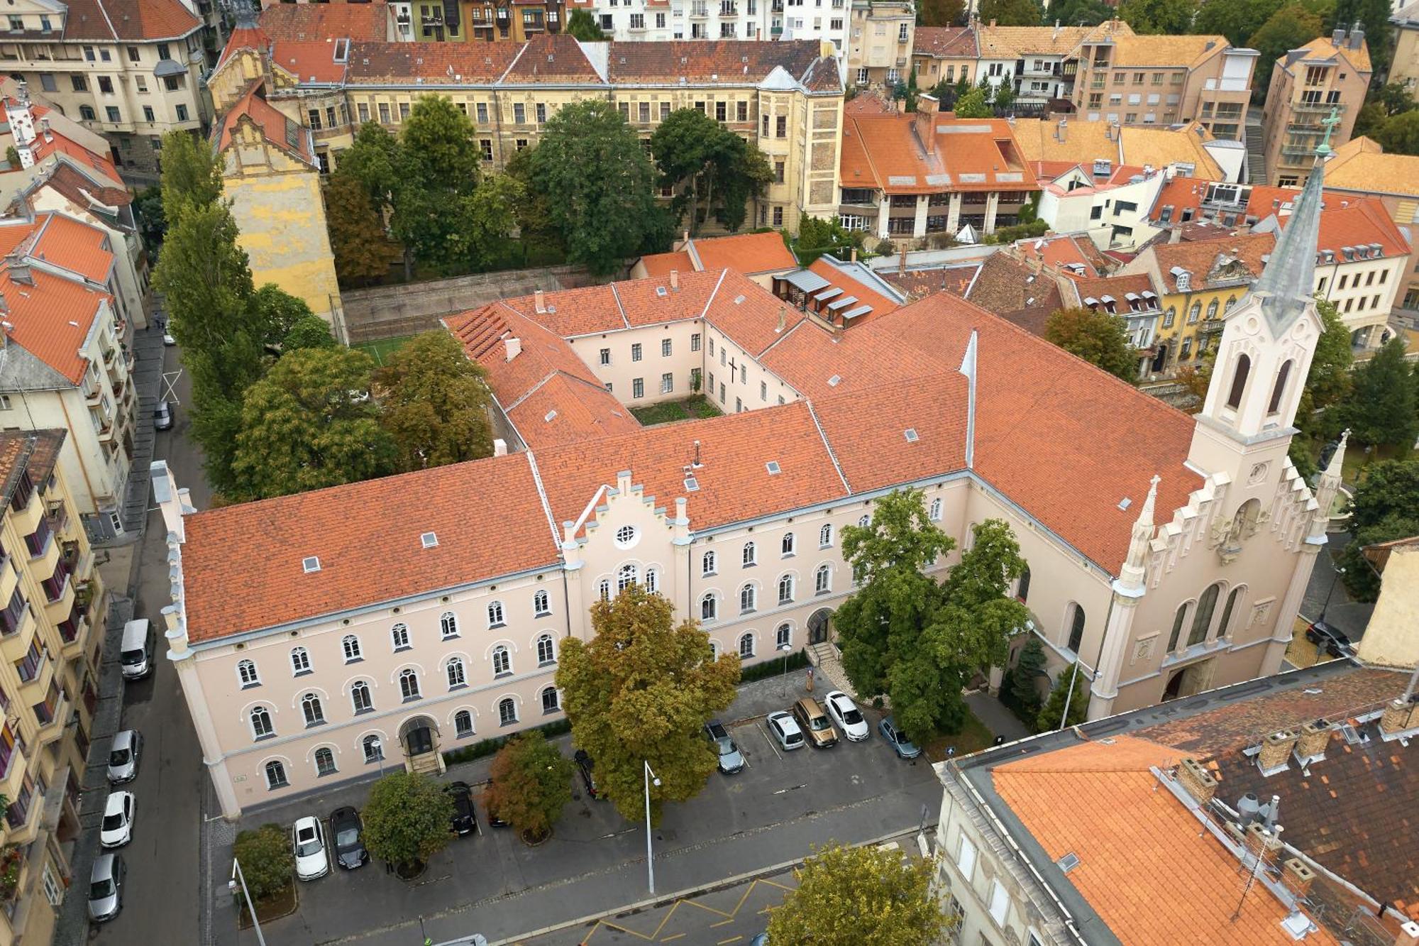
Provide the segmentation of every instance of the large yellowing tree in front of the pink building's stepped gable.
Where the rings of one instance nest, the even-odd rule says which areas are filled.
[[[590,641],[566,638],[556,669],[572,739],[596,760],[597,783],[629,820],[641,817],[643,766],[651,818],[666,801],[704,788],[718,760],[702,729],[729,707],[739,656],[718,659],[694,621],[673,624],[674,607],[639,584],[592,605]]]

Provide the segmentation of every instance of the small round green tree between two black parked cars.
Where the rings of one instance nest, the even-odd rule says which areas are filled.
[[[453,798],[417,771],[394,771],[369,790],[365,847],[396,866],[421,865],[448,844]]]

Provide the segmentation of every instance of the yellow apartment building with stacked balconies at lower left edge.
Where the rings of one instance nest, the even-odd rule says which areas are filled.
[[[60,469],[65,430],[0,432],[0,943],[48,946],[72,875],[108,598]]]

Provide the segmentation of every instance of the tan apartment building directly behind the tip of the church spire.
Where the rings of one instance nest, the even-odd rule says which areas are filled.
[[[1261,119],[1267,182],[1298,187],[1323,138],[1331,148],[1349,141],[1372,72],[1358,26],[1311,40],[1276,61]],[[1325,121],[1332,115],[1340,121]]]

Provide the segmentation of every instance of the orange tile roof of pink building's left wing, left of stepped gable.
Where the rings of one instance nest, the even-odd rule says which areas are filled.
[[[559,567],[525,453],[227,506],[184,524],[194,642]],[[423,548],[430,531],[438,544]],[[321,570],[307,574],[311,555]]]

